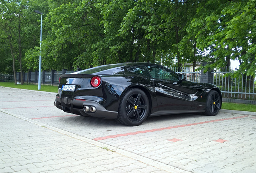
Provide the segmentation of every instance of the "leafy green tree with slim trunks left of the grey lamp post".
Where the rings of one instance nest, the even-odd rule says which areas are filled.
[[[15,84],[17,84],[16,63],[18,62],[19,71],[23,74],[23,70],[26,69],[25,52],[36,40],[34,27],[31,26],[35,22],[31,6],[32,3],[29,4],[26,0],[2,0],[0,3],[0,38],[8,43],[6,46],[9,52],[5,52],[5,56],[12,57]],[[21,84],[23,80],[21,75]]]

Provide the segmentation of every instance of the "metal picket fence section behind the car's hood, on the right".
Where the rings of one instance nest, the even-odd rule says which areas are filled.
[[[192,67],[185,67],[181,70],[178,68],[171,68],[177,73],[182,73],[187,77],[188,81],[192,82],[206,82],[202,81],[203,72],[192,71]],[[222,96],[224,98],[231,99],[246,99],[255,100],[256,99],[256,76],[246,76],[245,74],[240,74],[237,77],[232,77],[232,73],[235,70],[230,70],[229,68],[221,68],[212,70],[207,78],[211,80],[207,81],[211,84],[215,84],[221,90]]]

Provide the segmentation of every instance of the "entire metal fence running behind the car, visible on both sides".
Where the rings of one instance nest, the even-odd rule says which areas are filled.
[[[223,98],[256,100],[255,76],[240,74],[234,78],[230,75],[234,70],[227,70],[227,68],[214,69],[206,73],[203,73],[203,70],[193,72],[192,67],[171,68],[171,70],[178,74],[184,74],[188,81],[215,84],[221,90]],[[68,71],[66,69],[62,71],[42,71],[41,84],[57,85],[61,74],[68,74],[72,72],[74,71]],[[38,72],[24,73],[23,76],[25,78],[24,82],[29,80],[29,83],[38,83]],[[21,74],[17,73],[17,81],[20,81],[20,79]],[[0,81],[14,81],[14,77],[9,74],[0,74]]]

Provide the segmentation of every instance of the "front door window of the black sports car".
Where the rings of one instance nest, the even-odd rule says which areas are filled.
[[[179,76],[165,68],[157,67],[157,66],[147,66],[151,76],[156,79],[163,80],[179,80]]]

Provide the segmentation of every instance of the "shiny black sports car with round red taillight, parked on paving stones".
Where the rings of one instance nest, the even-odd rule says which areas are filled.
[[[138,62],[62,74],[54,105],[65,112],[137,126],[148,116],[214,116],[221,103],[221,91],[213,84],[189,82],[163,66]]]

